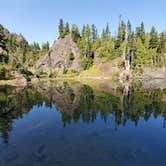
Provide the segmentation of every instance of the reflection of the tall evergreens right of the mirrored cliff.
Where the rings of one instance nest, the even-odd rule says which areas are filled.
[[[72,120],[77,123],[79,119],[83,122],[94,122],[97,114],[103,120],[107,120],[109,115],[113,115],[115,125],[125,125],[128,120],[135,125],[143,118],[148,121],[153,115],[155,118],[159,115],[166,117],[166,103],[162,102],[165,92],[161,90],[142,90],[131,86],[121,100],[121,95],[115,96],[107,92],[95,94],[87,85],[81,90],[79,106],[72,114],[62,113],[64,126]],[[165,116],[164,116],[165,115]]]

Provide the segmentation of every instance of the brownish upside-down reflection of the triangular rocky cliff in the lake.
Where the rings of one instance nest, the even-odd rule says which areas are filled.
[[[59,111],[73,113],[78,107],[80,99],[80,89],[82,84],[77,83],[69,86],[67,83],[62,83],[53,87],[37,86],[38,92],[47,97],[49,101],[56,105]]]

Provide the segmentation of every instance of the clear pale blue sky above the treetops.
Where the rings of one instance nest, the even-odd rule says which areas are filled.
[[[0,0],[0,24],[30,43],[52,44],[60,18],[79,27],[94,23],[99,31],[108,22],[115,34],[119,15],[134,27],[143,20],[146,30],[154,25],[160,32],[166,29],[166,0]]]

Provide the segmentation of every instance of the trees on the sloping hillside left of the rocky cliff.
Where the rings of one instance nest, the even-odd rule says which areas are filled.
[[[49,43],[29,44],[20,34],[10,33],[0,25],[0,79],[10,79],[11,70],[25,72],[49,50]]]

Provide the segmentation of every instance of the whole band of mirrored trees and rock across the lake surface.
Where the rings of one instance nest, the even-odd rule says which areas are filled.
[[[93,123],[97,116],[103,121],[110,117],[114,127],[125,126],[128,121],[135,126],[140,119],[148,121],[150,117],[163,117],[166,120],[166,91],[143,89],[139,85],[111,89],[107,85],[98,87],[79,82],[61,82],[53,85],[31,85],[25,88],[0,87],[0,132],[4,143],[8,143],[9,133],[15,119],[31,111],[33,106],[47,108],[53,105],[61,113],[63,126],[80,120]]]

